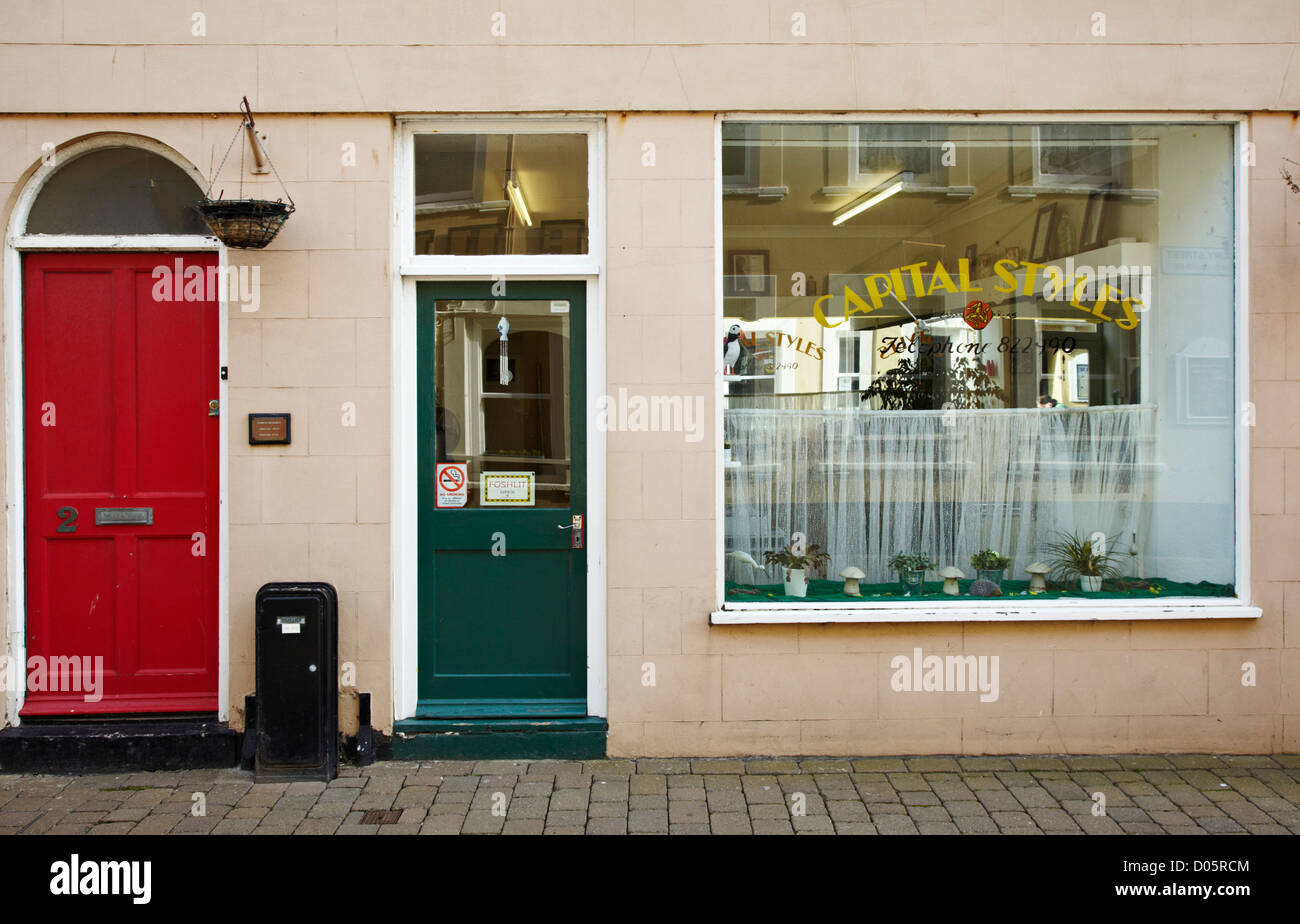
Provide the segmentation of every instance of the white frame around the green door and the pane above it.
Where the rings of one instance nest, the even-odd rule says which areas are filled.
[[[578,133],[588,136],[588,253],[528,256],[416,255],[410,152],[420,131]],[[419,282],[552,281],[586,283],[586,710],[607,716],[606,442],[593,409],[606,394],[604,369],[604,117],[399,118],[393,138],[393,719],[410,719],[419,699],[419,438],[416,433],[416,286]],[[411,195],[407,195],[407,194]]]

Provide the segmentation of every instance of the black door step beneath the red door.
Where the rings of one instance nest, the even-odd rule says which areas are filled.
[[[242,734],[217,721],[30,724],[0,729],[0,769],[109,773],[237,767]]]

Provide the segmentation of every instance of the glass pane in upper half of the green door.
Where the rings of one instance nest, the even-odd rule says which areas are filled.
[[[534,507],[568,507],[567,302],[434,303],[436,450],[468,463],[465,507],[482,507],[485,472],[532,473]]]

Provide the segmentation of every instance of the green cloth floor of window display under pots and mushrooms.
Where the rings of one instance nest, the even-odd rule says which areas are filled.
[[[1143,599],[1148,600],[1156,597],[1235,597],[1231,584],[1210,584],[1208,581],[1201,581],[1200,584],[1183,584],[1180,581],[1169,581],[1164,577],[1147,577],[1143,578],[1147,587],[1130,587],[1121,589],[1119,582],[1115,580],[1108,580],[1101,585],[1101,590],[1096,594],[1086,594],[1078,589],[1078,585],[1071,589],[1066,589],[1060,585],[1048,585],[1048,590],[1039,594],[1030,593],[1028,581],[1002,581],[1002,595],[993,599],[1017,599],[1017,598],[1032,598],[1035,600],[1058,600],[1058,599],[1084,599],[1084,600],[1135,600]],[[749,585],[749,584],[736,584],[733,581],[727,582],[727,599],[742,603],[862,603],[864,600],[888,600],[890,598],[900,600],[933,600],[941,603],[944,600],[979,600],[988,599],[982,597],[974,597],[970,593],[970,587],[975,584],[971,581],[958,581],[958,587],[961,594],[952,597],[944,593],[942,581],[926,581],[924,590],[922,594],[913,594],[911,597],[904,595],[902,586],[897,582],[889,584],[863,584],[861,597],[850,597],[844,593],[844,581],[822,581],[814,580],[809,581],[807,597],[786,597],[785,586],[781,584],[766,584],[766,585]],[[755,593],[757,591],[757,593]]]

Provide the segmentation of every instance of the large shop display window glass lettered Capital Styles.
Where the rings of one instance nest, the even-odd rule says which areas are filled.
[[[729,604],[1235,597],[1232,126],[722,135]]]

